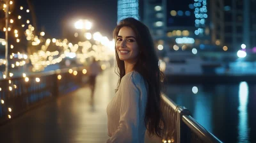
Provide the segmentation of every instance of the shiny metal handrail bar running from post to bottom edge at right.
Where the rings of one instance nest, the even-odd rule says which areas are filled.
[[[205,142],[221,142],[217,137],[201,126],[201,124],[197,123],[193,117],[184,115],[182,116],[182,121]]]

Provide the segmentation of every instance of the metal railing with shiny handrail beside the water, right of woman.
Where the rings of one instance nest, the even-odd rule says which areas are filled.
[[[163,142],[221,142],[197,123],[188,109],[176,105],[164,94],[162,99],[163,116],[167,126]]]

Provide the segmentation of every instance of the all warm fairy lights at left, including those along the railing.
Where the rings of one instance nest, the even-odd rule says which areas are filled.
[[[8,0],[8,4],[3,4],[3,11],[6,11],[7,6],[10,6],[13,4],[13,1]],[[9,5],[10,4],[10,5]],[[19,10],[26,11],[26,13],[29,13],[29,9],[24,8],[23,6],[19,6]],[[11,15],[12,12],[8,11],[8,14]],[[23,20],[22,15],[16,15],[16,19],[8,19],[8,22],[10,24],[15,24],[16,20]],[[17,66],[24,66],[29,61],[31,61],[31,64],[33,66],[32,72],[40,72],[44,70],[45,67],[51,65],[51,64],[57,64],[60,63],[63,59],[66,57],[74,58],[76,57],[77,61],[80,63],[85,63],[86,58],[88,57],[95,57],[97,61],[108,61],[111,56],[115,55],[115,42],[114,40],[109,41],[106,36],[102,36],[99,32],[96,32],[94,34],[92,33],[85,33],[84,38],[85,41],[79,41],[78,43],[70,43],[67,39],[61,40],[61,39],[45,39],[45,32],[41,31],[40,35],[36,35],[35,33],[35,27],[33,27],[30,23],[29,19],[24,19],[24,24],[21,24],[22,29],[26,28],[24,32],[19,31],[18,29],[12,29],[10,27],[4,27],[3,31],[8,31],[9,33],[13,33],[15,42],[20,43],[21,38],[20,36],[22,33],[25,34],[26,40],[29,41],[28,43],[31,45],[28,46],[40,46],[40,50],[33,52],[31,54],[25,54],[22,52],[12,53],[8,55],[6,59],[0,59],[0,66],[5,65],[6,66],[6,60],[8,59],[19,59],[20,61],[16,61],[15,63],[11,64],[12,68],[15,68]],[[91,40],[93,38],[93,40]],[[94,43],[93,43],[93,42]],[[9,41],[8,41],[9,42]],[[6,41],[2,40],[0,41],[2,45],[6,45]],[[10,45],[10,49],[15,49],[13,46],[14,44],[8,43]],[[51,51],[49,47],[56,46],[61,50],[54,50]],[[9,47],[8,47],[9,48]],[[81,49],[81,50],[79,50]],[[102,68],[106,68],[106,65],[102,65]],[[73,75],[77,75],[76,70],[68,70],[69,73],[72,73]],[[83,70],[83,74],[86,74],[86,69]],[[6,79],[8,77],[13,77],[14,73],[8,72],[3,74],[3,79]],[[26,73],[22,73],[22,77],[24,77],[24,82],[29,82],[29,78],[27,77]],[[61,80],[61,75],[58,75],[58,80]],[[40,82],[40,78],[35,78],[36,82]],[[17,89],[18,87],[13,84],[12,78],[9,78],[8,80],[8,90],[13,91]],[[2,91],[2,88],[0,87],[0,92]],[[4,99],[0,97],[1,104],[4,104]],[[12,108],[8,107],[8,118],[11,119],[11,112]]]

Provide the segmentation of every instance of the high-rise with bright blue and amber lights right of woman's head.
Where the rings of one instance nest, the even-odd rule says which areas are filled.
[[[170,50],[211,45],[206,0],[148,0],[143,5],[143,22],[157,44]]]

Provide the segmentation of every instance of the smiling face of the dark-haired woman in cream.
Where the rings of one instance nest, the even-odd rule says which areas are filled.
[[[130,27],[122,27],[116,37],[116,51],[120,60],[134,63],[139,54],[136,35]]]

